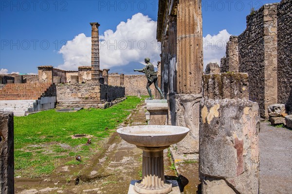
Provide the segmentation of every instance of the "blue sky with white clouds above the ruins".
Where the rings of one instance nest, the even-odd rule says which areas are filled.
[[[203,36],[210,34],[209,38],[216,36],[225,41],[230,34],[239,35],[246,27],[245,18],[251,7],[257,10],[265,3],[279,1],[202,0]],[[142,62],[142,58],[146,57],[142,55],[150,56],[156,63],[159,50],[157,43],[152,41],[156,37],[157,13],[158,0],[1,0],[0,69],[7,69],[9,73],[37,73],[36,67],[39,65],[54,65],[64,69],[89,65],[90,22],[100,23],[101,39],[128,42],[133,37],[136,41],[134,44],[141,40],[140,47],[145,42],[147,44],[145,50],[136,45],[136,48],[127,52],[119,50],[122,45],[118,48],[107,47],[110,49],[104,49],[100,56],[101,67],[118,67],[121,70],[127,64]],[[224,29],[226,31],[222,32]],[[60,51],[67,41],[68,45],[63,47],[67,50]],[[154,51],[148,47],[153,47]],[[216,58],[208,61],[206,51],[205,61],[218,61],[222,53],[223,49],[218,51]]]

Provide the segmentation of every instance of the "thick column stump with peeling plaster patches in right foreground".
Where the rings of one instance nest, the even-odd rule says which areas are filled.
[[[258,194],[259,106],[247,99],[201,101],[202,194]],[[233,192],[232,192],[233,190]]]

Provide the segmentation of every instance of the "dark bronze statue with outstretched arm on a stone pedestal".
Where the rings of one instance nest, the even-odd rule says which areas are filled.
[[[154,70],[154,65],[150,63],[149,58],[145,58],[145,63],[146,63],[146,66],[143,69],[134,69],[134,71],[145,73],[146,78],[147,78],[146,88],[150,96],[148,99],[153,99],[151,89],[149,87],[152,83],[154,83],[155,88],[158,90],[158,92],[161,95],[161,99],[163,99],[164,95],[162,94],[161,89],[158,87],[157,72],[155,72]]]

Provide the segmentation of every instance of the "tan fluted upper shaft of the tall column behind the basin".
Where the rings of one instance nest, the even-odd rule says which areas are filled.
[[[180,0],[177,15],[178,94],[201,93],[202,38],[201,0]]]

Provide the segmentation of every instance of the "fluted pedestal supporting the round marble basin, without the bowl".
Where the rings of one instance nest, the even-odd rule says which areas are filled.
[[[143,147],[142,180],[135,183],[135,191],[139,194],[167,194],[172,184],[164,179],[163,147]]]

